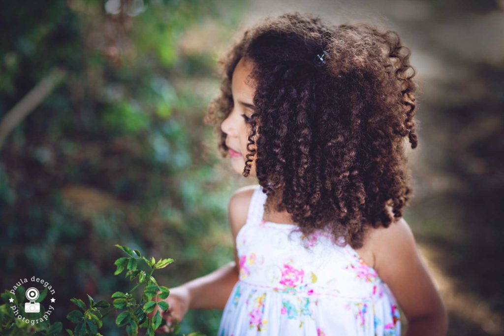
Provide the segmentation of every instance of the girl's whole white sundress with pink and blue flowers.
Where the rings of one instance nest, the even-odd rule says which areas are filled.
[[[326,230],[306,239],[263,220],[266,198],[258,186],[236,236],[239,280],[218,336],[400,336],[399,307],[376,271]]]

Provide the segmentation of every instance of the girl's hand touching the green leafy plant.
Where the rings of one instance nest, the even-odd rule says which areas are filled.
[[[157,328],[156,332],[170,332],[173,331],[174,322],[180,322],[184,317],[191,303],[191,298],[187,288],[180,286],[170,288],[170,295],[166,299],[157,298],[157,301],[165,301],[168,304],[168,310],[161,311],[158,305],[155,306],[154,310],[149,313],[149,318],[156,315],[159,310],[159,314],[166,321],[166,325],[162,325]]]

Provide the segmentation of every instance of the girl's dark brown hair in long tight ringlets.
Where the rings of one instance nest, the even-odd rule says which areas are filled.
[[[220,124],[233,108],[231,77],[242,57],[252,61],[256,110],[243,176],[256,157],[268,200],[305,237],[330,227],[336,242],[360,248],[367,228],[387,228],[412,194],[404,148],[406,136],[411,148],[418,142],[410,54],[395,31],[366,23],[267,17],[219,59],[221,90],[204,122],[215,124],[225,157]]]

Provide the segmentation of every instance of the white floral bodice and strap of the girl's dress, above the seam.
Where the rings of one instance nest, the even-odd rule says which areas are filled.
[[[236,236],[240,280],[305,295],[383,295],[377,272],[350,245],[336,244],[327,230],[305,237],[296,225],[264,220],[266,198],[260,186],[254,190]]]

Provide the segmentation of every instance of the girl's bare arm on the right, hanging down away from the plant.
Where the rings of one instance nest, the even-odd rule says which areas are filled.
[[[415,238],[404,218],[389,228],[370,230],[376,272],[389,286],[406,315],[406,336],[445,336],[445,305],[418,254]]]

